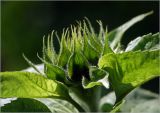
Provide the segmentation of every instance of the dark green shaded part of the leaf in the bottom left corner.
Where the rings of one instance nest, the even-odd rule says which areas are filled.
[[[2,112],[50,112],[48,107],[35,99],[18,98],[1,107]]]

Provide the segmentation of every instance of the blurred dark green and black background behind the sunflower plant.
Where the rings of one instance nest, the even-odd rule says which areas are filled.
[[[109,31],[141,13],[154,14],[139,22],[124,35],[122,43],[147,33],[159,31],[159,3],[141,2],[1,2],[1,71],[28,67],[24,53],[34,63],[41,63],[42,37],[52,30],[61,34],[64,27],[88,17],[96,31],[101,20]],[[158,92],[158,79],[143,85]]]

